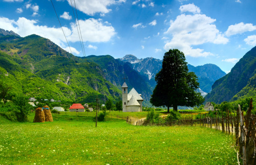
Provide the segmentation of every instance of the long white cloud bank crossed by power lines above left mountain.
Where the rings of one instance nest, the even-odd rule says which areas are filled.
[[[116,34],[115,29],[109,25],[109,23],[108,25],[103,23],[101,19],[90,18],[86,20],[79,20],[79,23],[84,42],[106,42]],[[63,49],[66,49],[67,46],[67,42],[61,28],[39,26],[37,25],[36,20],[29,20],[27,18],[20,17],[15,21],[5,17],[0,17],[0,28],[12,30],[22,37],[37,34],[41,37],[49,38]],[[69,42],[80,41],[74,23],[71,23],[71,29],[67,27],[62,28]]]

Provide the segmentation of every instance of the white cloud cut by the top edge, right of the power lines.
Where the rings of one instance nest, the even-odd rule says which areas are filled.
[[[71,2],[67,0],[69,5],[71,6]],[[109,6],[123,3],[124,0],[76,0],[76,8],[83,12],[84,14],[94,15],[95,13],[109,13],[111,9],[108,9]]]

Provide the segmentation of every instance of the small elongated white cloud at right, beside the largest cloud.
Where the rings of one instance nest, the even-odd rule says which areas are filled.
[[[253,26],[252,23],[246,23],[244,24],[244,22],[240,22],[236,25],[230,25],[227,29],[227,31],[225,32],[226,36],[231,36],[231,35],[235,35],[235,34],[242,34],[244,32],[251,32],[256,30],[256,26]]]

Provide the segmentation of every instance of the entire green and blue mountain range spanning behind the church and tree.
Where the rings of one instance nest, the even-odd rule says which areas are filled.
[[[214,64],[187,66],[197,75],[202,95],[210,92],[206,101],[221,103],[256,96],[255,55],[253,48],[227,75]],[[152,57],[76,57],[47,38],[20,37],[0,29],[0,80],[12,87],[13,94],[80,103],[94,102],[96,97],[101,103],[115,102],[121,99],[125,77],[129,89],[134,87],[142,94],[143,106],[151,106],[155,76],[161,67],[162,60]]]

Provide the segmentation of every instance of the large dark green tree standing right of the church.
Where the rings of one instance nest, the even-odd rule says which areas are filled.
[[[150,102],[154,106],[173,107],[198,106],[204,102],[200,92],[197,92],[199,83],[193,72],[188,72],[186,58],[177,49],[169,50],[164,54],[162,69],[156,75],[157,85]]]

